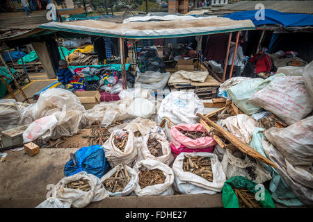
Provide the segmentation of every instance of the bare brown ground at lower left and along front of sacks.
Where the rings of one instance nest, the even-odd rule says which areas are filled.
[[[63,167],[77,148],[41,148],[33,157],[7,151],[0,162],[0,207],[36,207],[46,198],[48,184],[64,177]],[[223,207],[221,194],[109,197],[87,207]]]

